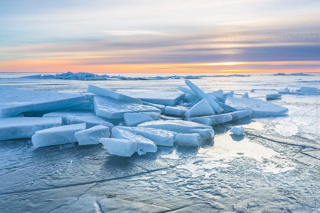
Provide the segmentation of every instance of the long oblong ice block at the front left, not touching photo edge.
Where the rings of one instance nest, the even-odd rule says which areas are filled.
[[[52,127],[50,129],[36,131],[31,137],[31,141],[34,147],[75,143],[78,141],[75,137],[75,133],[84,129],[85,124]]]

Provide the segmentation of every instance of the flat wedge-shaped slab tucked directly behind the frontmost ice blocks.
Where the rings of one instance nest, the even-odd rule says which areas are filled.
[[[171,147],[173,146],[174,137],[177,134],[173,131],[146,127],[115,126],[114,129],[124,129],[134,133],[138,133],[143,137],[153,141],[156,145]]]

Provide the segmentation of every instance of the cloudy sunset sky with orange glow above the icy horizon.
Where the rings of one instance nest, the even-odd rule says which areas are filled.
[[[0,0],[0,72],[320,72],[319,0]]]

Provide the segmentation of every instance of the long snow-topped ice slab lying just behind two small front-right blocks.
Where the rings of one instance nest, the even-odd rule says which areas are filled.
[[[191,133],[191,129],[212,129],[212,126],[185,120],[153,120],[139,124],[138,127],[151,127],[177,133]]]

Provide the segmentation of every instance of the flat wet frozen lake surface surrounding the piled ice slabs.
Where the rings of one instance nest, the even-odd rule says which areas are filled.
[[[252,88],[315,87],[317,76],[251,76],[192,80],[201,89],[266,100]],[[5,80],[29,90],[172,90],[183,80]],[[44,86],[45,85],[45,86]],[[235,95],[237,96],[237,95]],[[240,97],[240,96],[239,96]],[[318,100],[317,100],[318,98]],[[319,201],[319,97],[283,94],[274,117],[247,117],[214,126],[201,148],[158,146],[156,153],[110,155],[102,144],[34,148],[30,139],[0,142],[2,212],[313,212]],[[243,126],[243,135],[232,135]],[[318,129],[318,130],[317,130]]]

